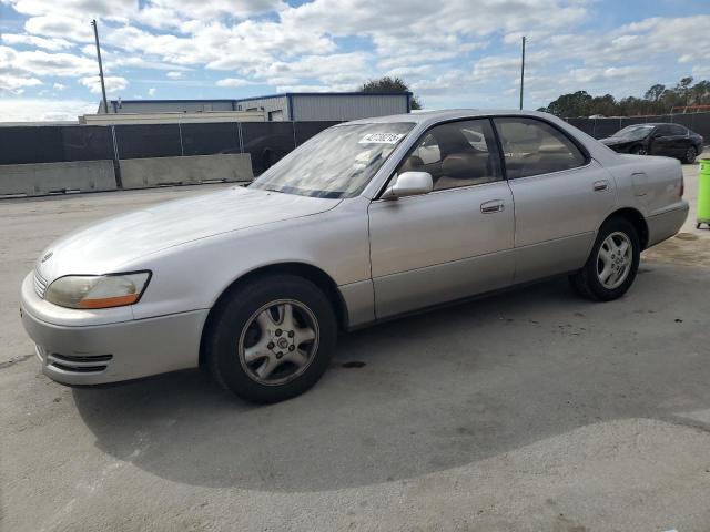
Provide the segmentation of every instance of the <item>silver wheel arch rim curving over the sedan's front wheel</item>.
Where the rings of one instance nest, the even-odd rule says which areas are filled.
[[[220,310],[221,303],[224,301],[230,295],[236,290],[239,287],[243,286],[245,283],[251,280],[267,277],[272,275],[294,275],[297,277],[302,277],[304,279],[310,280],[318,288],[323,290],[325,296],[328,298],[331,304],[333,305],[333,310],[335,311],[335,316],[337,319],[338,328],[342,330],[347,329],[348,324],[348,314],[347,314],[347,305],[345,303],[345,298],[341,294],[337,284],[333,280],[333,278],[312,264],[307,263],[298,263],[298,262],[288,262],[288,263],[277,263],[270,264],[266,266],[261,266],[258,268],[252,269],[247,272],[236,279],[234,279],[223,291],[220,294],[217,299],[212,305],[210,313],[205,319],[204,326],[202,327],[202,336],[200,340],[200,366],[204,362],[204,341],[205,338],[212,327],[214,321],[214,317],[217,315]]]

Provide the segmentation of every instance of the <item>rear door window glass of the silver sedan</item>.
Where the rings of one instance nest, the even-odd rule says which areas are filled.
[[[535,119],[494,119],[509,180],[584,166],[585,155],[557,127]]]

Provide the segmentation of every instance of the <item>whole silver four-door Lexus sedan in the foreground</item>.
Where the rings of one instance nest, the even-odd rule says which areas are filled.
[[[568,275],[608,301],[688,214],[678,161],[620,155],[535,112],[339,124],[246,187],[70,234],[22,284],[43,372],[93,385],[202,366],[273,402],[339,330]]]

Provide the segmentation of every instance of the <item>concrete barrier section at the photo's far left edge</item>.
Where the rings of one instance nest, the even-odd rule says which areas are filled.
[[[0,196],[115,191],[113,161],[0,165]]]

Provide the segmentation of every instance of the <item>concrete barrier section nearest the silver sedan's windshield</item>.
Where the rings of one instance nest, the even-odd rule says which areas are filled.
[[[248,153],[125,158],[120,165],[123,188],[254,178]]]

